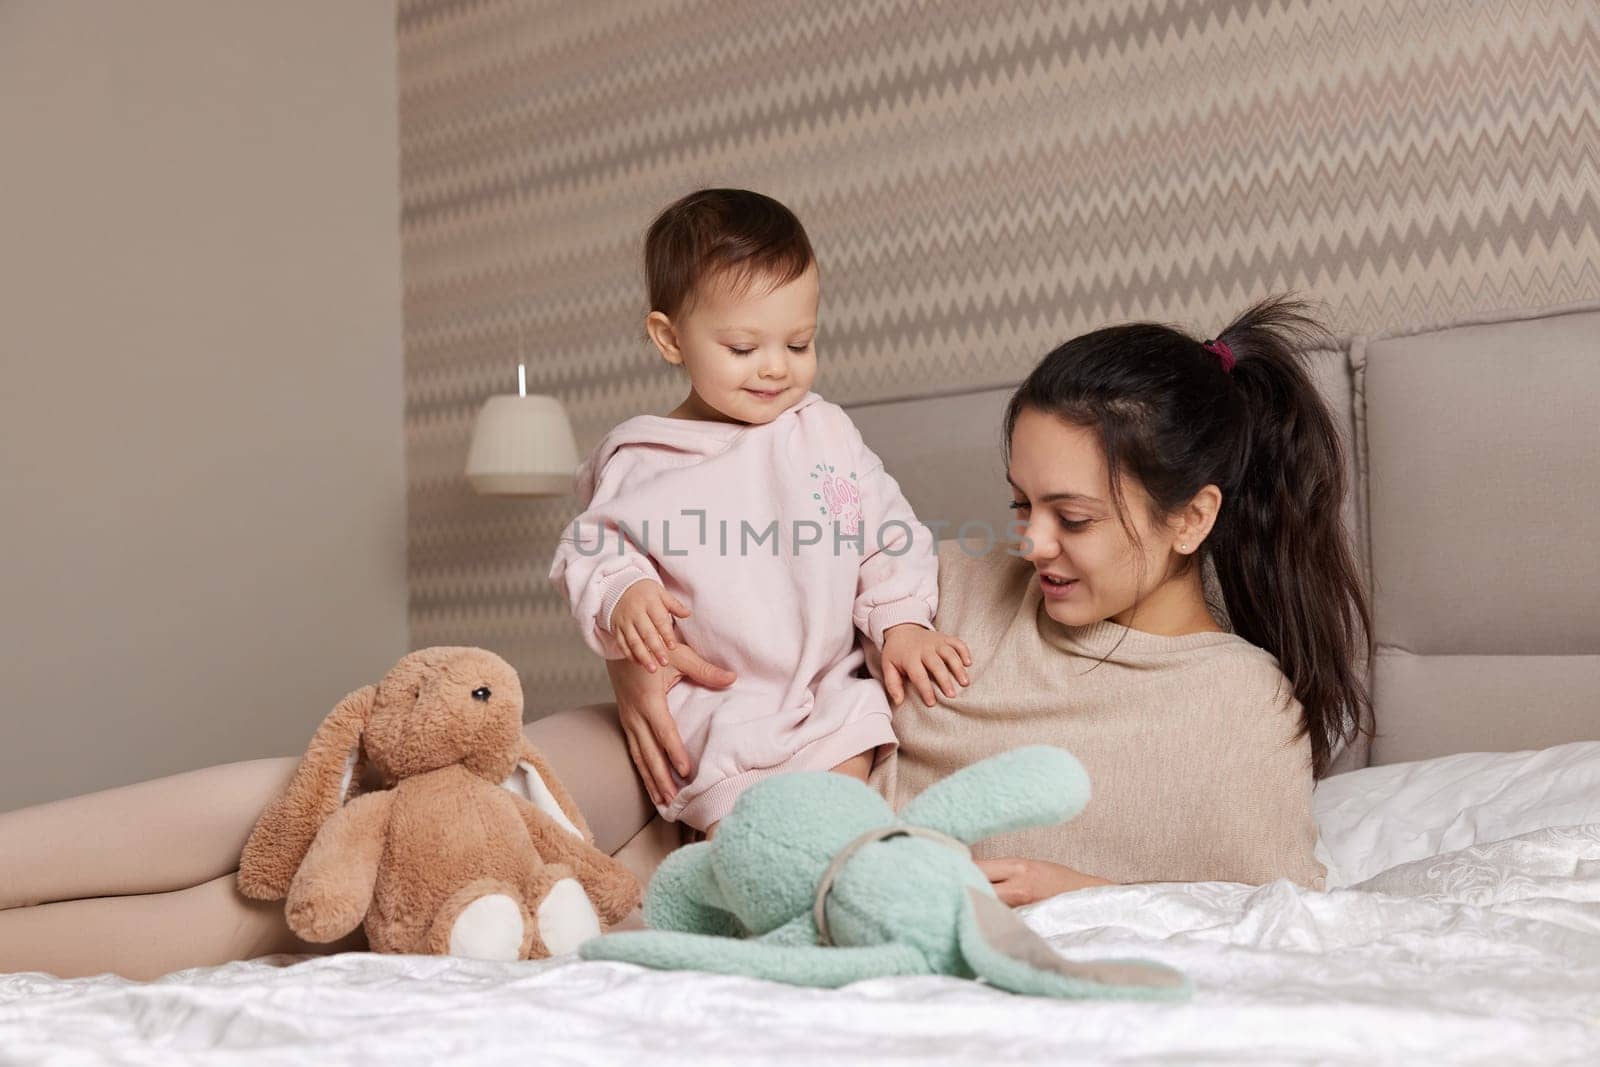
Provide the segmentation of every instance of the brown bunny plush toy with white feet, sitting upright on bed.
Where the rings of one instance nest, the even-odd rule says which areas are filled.
[[[365,920],[374,952],[483,960],[571,952],[640,896],[523,737],[517,672],[482,648],[414,651],[344,697],[251,830],[238,888],[288,897],[306,941]]]

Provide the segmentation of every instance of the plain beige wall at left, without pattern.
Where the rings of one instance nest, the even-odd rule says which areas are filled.
[[[0,2],[0,809],[406,643],[394,5]]]

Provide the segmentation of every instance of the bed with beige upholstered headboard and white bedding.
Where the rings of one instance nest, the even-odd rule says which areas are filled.
[[[1187,1003],[272,958],[150,984],[0,976],[0,1059],[1597,1064],[1595,336],[1600,310],[1573,307],[1315,355],[1350,443],[1346,522],[1378,640],[1378,736],[1317,790],[1328,891],[1109,886],[1022,910],[1064,953],[1186,971]],[[918,514],[955,533],[1003,520],[1003,397],[854,414]]]

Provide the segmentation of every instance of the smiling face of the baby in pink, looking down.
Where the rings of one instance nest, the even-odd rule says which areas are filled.
[[[688,371],[694,418],[760,426],[800,403],[816,378],[816,267],[771,288],[746,291],[709,280],[672,320],[669,363]]]

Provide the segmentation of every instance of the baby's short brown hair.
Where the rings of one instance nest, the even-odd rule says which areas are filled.
[[[811,238],[795,213],[749,189],[701,189],[669,205],[645,235],[650,310],[674,317],[712,275],[736,288],[789,285],[811,264]]]

